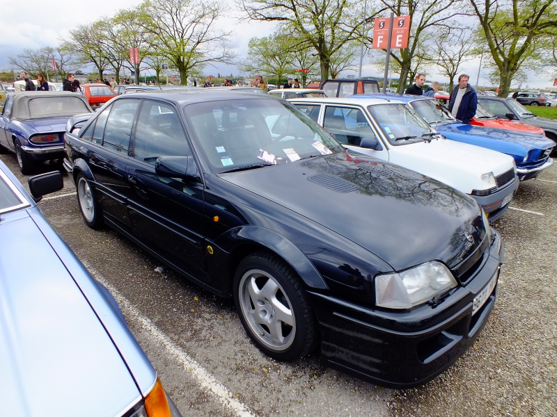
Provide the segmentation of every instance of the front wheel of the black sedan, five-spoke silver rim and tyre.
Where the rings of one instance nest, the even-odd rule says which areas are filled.
[[[304,357],[315,341],[315,319],[306,292],[291,268],[267,252],[240,262],[234,277],[236,309],[247,334],[279,361]]]

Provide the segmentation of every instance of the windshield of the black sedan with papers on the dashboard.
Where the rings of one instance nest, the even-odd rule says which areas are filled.
[[[186,106],[185,114],[217,172],[343,152],[313,120],[279,100],[206,101]]]

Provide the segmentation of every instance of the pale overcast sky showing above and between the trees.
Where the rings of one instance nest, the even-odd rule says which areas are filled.
[[[136,6],[139,1],[112,0],[110,2],[111,10],[116,13],[118,10]],[[250,38],[271,34],[274,24],[263,22],[242,22],[242,24],[238,24],[235,17],[240,16],[241,13],[235,10],[232,0],[226,1],[230,3],[229,13],[226,18],[217,21],[218,26],[228,31],[230,29],[234,31],[230,47],[237,51],[240,58],[244,58]],[[56,4],[56,6],[51,7],[47,6],[44,1],[27,0],[17,6],[13,6],[12,3],[10,8],[3,8],[2,24],[0,24],[0,69],[11,70],[8,57],[17,56],[23,49],[54,47],[60,43],[61,39],[68,37],[69,31],[78,24],[94,22],[103,16],[110,15],[107,8],[97,7],[94,3],[88,3],[88,6],[82,6],[83,3],[77,2],[60,4],[64,6]],[[356,62],[359,62],[359,60],[356,60]],[[472,85],[476,85],[479,64],[480,60],[476,59],[469,61],[462,67],[462,72],[470,75]],[[363,76],[383,76],[384,70],[372,65],[368,57],[363,58],[362,67]],[[223,76],[239,74],[237,68],[232,65],[217,65],[216,67],[207,65],[205,67],[206,74],[216,75],[218,72]],[[358,76],[358,71],[345,71],[341,74],[341,76],[347,75]],[[479,85],[489,86],[489,81],[484,75],[485,71],[482,69]],[[512,88],[518,88],[519,82],[522,89],[526,89],[526,85],[528,85],[528,88],[551,88],[552,80],[551,74],[531,74],[526,80],[513,82]],[[427,81],[446,83],[448,79],[432,72],[427,74]]]

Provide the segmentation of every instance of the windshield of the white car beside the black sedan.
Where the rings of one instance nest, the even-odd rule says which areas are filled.
[[[368,106],[368,111],[381,126],[391,145],[430,140],[437,134],[415,111],[404,104],[377,104]]]

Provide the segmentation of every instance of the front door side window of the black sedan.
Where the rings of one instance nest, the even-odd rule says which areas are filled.
[[[155,164],[159,156],[187,156],[189,145],[175,108],[145,100],[139,111],[132,156]]]

